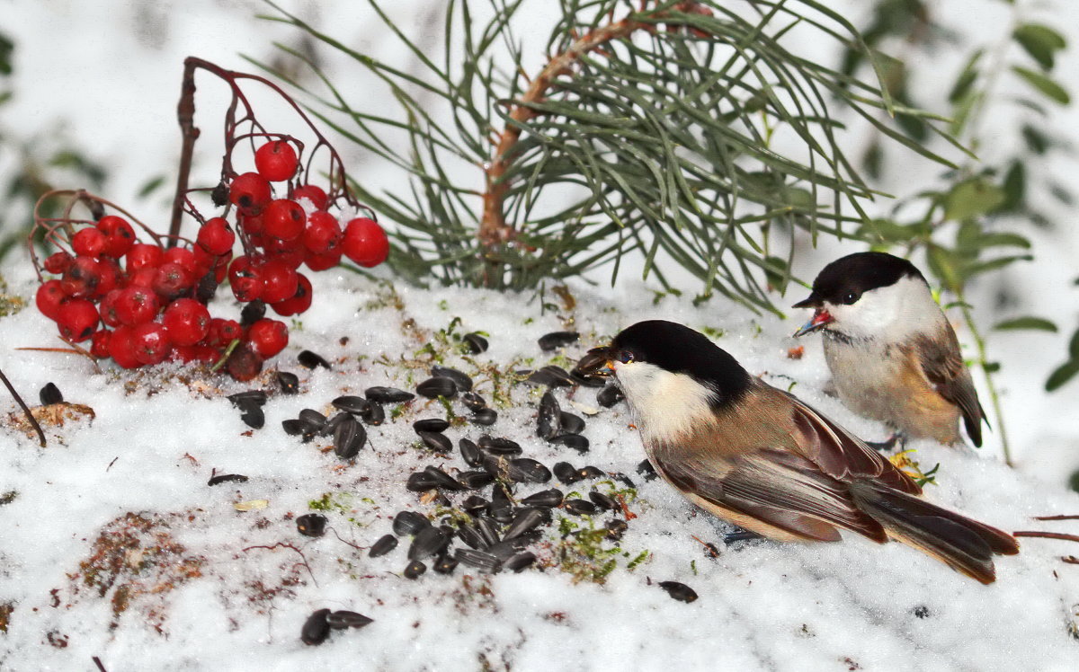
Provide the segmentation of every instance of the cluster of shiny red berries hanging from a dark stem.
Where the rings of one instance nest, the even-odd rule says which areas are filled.
[[[289,142],[261,146],[255,166],[257,172],[227,184],[235,227],[224,217],[210,218],[190,249],[139,243],[131,223],[114,215],[80,229],[70,236],[70,252],[44,260],[44,270],[59,277],[38,289],[38,310],[65,339],[90,340],[91,354],[124,368],[165,360],[213,364],[231,346],[227,370],[240,380],[254,378],[263,360],[288,344],[288,327],[264,317],[265,306],[282,316],[311,306],[311,282],[300,266],[323,271],[342,255],[374,266],[390,252],[378,222],[360,217],[342,228],[327,210],[326,192],[314,184],[289,183],[290,198],[273,198],[270,182],[291,180],[299,168]],[[235,231],[244,253],[233,257]],[[235,298],[252,308],[241,321],[210,317],[206,308],[226,278]]]

